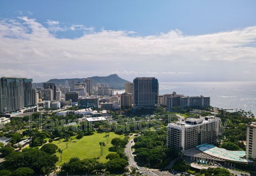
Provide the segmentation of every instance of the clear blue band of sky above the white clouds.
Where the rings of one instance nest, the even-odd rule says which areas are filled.
[[[63,25],[82,24],[97,30],[127,30],[154,35],[179,29],[186,35],[207,34],[256,25],[256,1],[1,1],[2,18],[33,13],[31,18]],[[16,13],[15,13],[16,12]],[[81,35],[81,33],[80,33]],[[76,32],[66,33],[72,38]]]

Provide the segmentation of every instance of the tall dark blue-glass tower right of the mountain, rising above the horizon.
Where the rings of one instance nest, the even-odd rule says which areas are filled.
[[[158,104],[158,80],[141,77],[133,80],[133,109],[154,108]]]

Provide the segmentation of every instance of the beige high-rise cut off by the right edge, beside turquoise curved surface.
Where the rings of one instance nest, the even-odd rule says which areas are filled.
[[[246,158],[256,158],[256,122],[247,125]]]

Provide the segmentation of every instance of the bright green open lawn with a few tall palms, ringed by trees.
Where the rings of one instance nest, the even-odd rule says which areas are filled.
[[[80,159],[84,158],[99,158],[99,161],[105,163],[106,156],[110,151],[108,151],[109,147],[113,145],[110,143],[114,137],[124,137],[124,135],[118,135],[114,132],[110,132],[109,134],[109,142],[107,144],[107,138],[105,137],[107,133],[97,133],[95,132],[91,136],[84,136],[81,139],[73,139],[69,140],[68,148],[66,148],[66,143],[63,142],[64,139],[59,141],[53,141],[52,144],[56,144],[62,152],[62,162],[60,160],[56,163],[56,165],[61,165],[63,162],[67,162],[72,157],[78,157]],[[75,137],[73,137],[75,138]],[[105,142],[106,146],[103,148],[103,155],[100,156],[100,142]],[[57,152],[56,155],[60,158],[60,154]]]

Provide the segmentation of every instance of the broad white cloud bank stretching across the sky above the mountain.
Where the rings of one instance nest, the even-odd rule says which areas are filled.
[[[134,75],[156,75],[211,81],[243,79],[237,70],[255,68],[256,26],[205,35],[185,35],[176,29],[140,36],[81,24],[63,27],[53,20],[46,24],[28,17],[0,19],[0,73],[36,77],[35,81],[111,73],[130,80]],[[52,34],[73,30],[88,32],[75,39]]]

